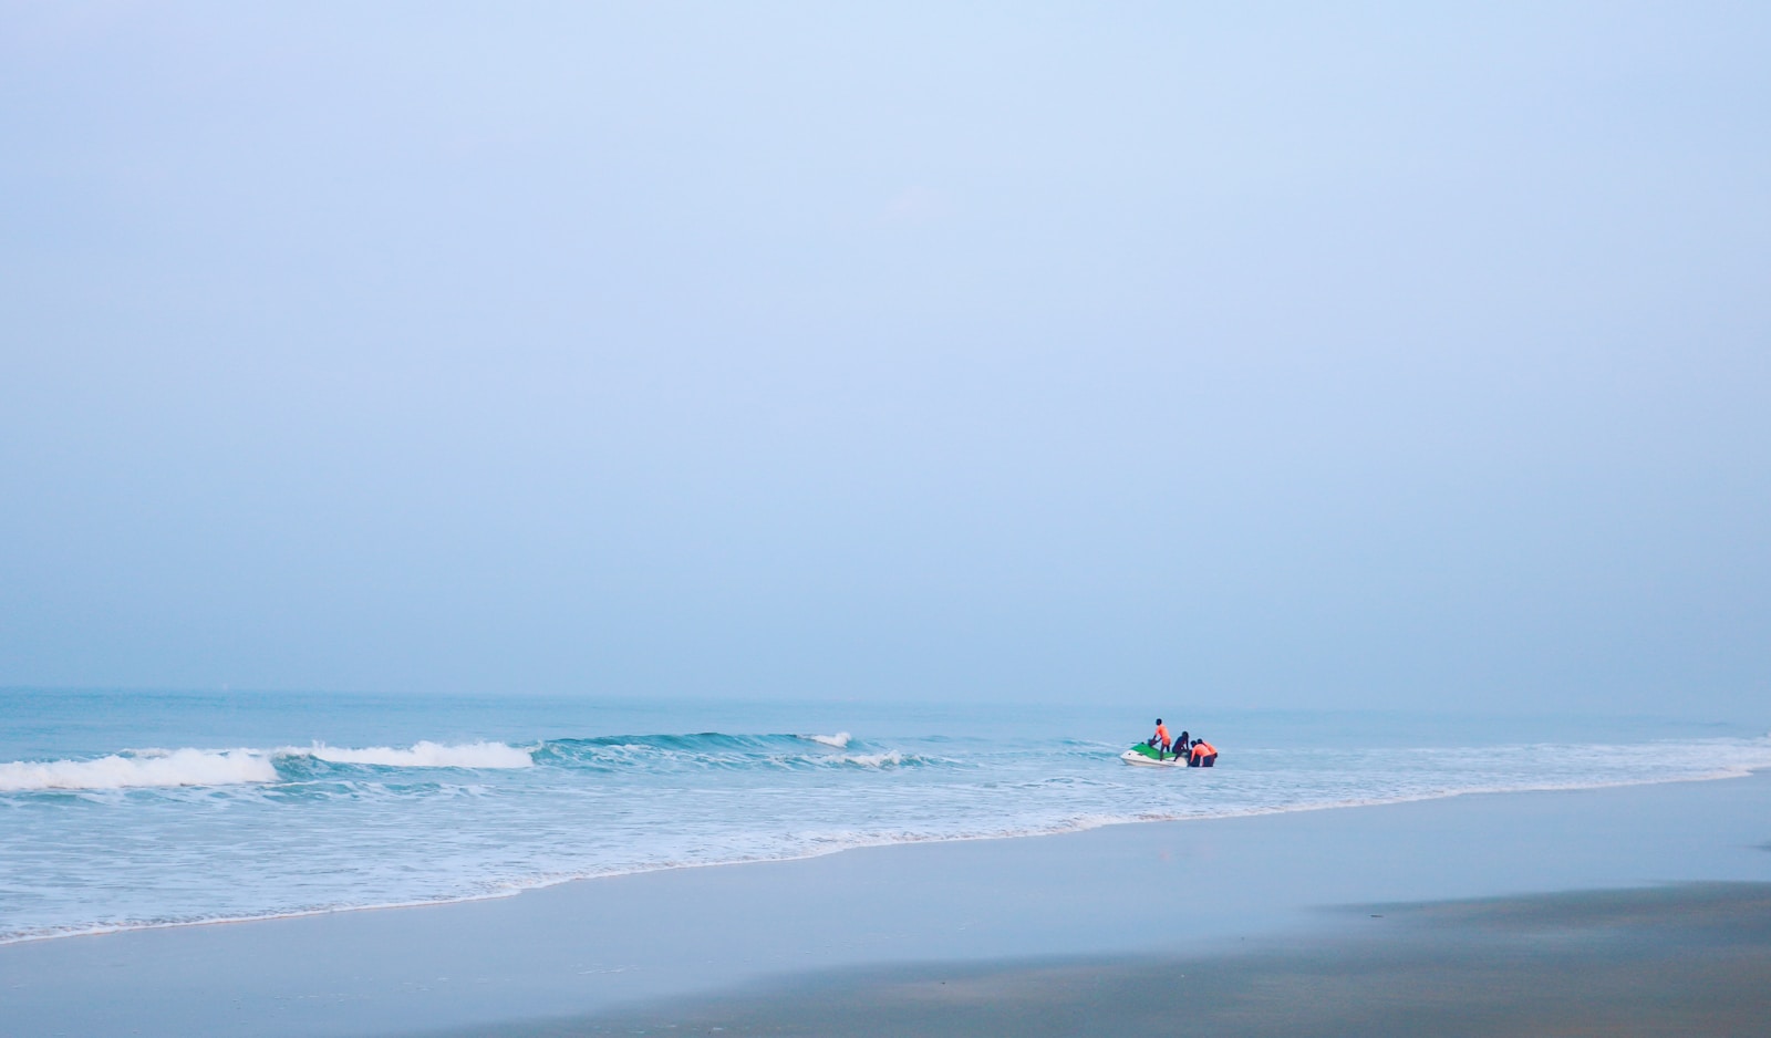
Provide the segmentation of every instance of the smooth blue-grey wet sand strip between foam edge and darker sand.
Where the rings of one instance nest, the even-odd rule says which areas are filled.
[[[1652,838],[1643,838],[1652,834]],[[896,843],[0,946],[19,1034],[512,1033],[829,971],[1319,941],[1326,905],[1771,882],[1771,774]]]

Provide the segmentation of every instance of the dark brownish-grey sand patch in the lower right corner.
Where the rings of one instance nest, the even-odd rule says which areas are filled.
[[[1365,919],[1365,933],[1181,958],[848,971],[471,1034],[1744,1038],[1771,1020],[1771,884],[1346,914]]]

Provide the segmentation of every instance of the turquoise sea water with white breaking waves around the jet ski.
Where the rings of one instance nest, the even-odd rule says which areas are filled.
[[[0,691],[0,942],[1771,767],[1728,724],[1160,709],[1218,767],[1126,767],[1126,707]]]

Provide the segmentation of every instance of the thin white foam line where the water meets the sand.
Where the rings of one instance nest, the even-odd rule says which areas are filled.
[[[1718,783],[1730,779],[1753,779],[1755,776],[1771,776],[1771,769],[1744,769],[1744,771],[1727,771],[1720,774],[1704,776],[1679,776],[1663,779],[1640,779],[1640,781],[1613,781],[1613,783],[1596,783],[1596,785],[1544,785],[1544,786],[1512,786],[1512,788],[1472,788],[1472,790],[1452,790],[1443,794],[1426,794],[1426,795],[1406,795],[1392,797],[1381,801],[1341,801],[1326,804],[1298,804],[1284,808],[1249,808],[1241,811],[1226,811],[1217,815],[1153,815],[1139,818],[1107,818],[1093,822],[1079,822],[1063,827],[1038,829],[1038,831],[1013,831],[1013,833],[983,833],[983,834],[962,834],[962,836],[930,836],[923,840],[878,840],[878,841],[857,841],[843,847],[832,847],[829,850],[815,850],[809,854],[790,854],[781,857],[749,857],[733,861],[689,861],[673,863],[655,868],[632,868],[623,871],[607,873],[590,873],[590,875],[568,875],[563,879],[537,880],[533,884],[514,886],[508,891],[485,893],[485,895],[466,895],[466,896],[448,896],[436,900],[416,900],[416,902],[388,902],[374,905],[340,905],[324,909],[294,909],[287,912],[267,912],[259,916],[228,916],[216,919],[177,919],[166,923],[122,923],[115,926],[96,926],[89,930],[71,930],[57,933],[27,933],[18,937],[0,937],[0,948],[12,948],[21,944],[41,944],[46,941],[66,941],[78,937],[112,937],[120,933],[138,933],[152,930],[181,930],[191,926],[234,926],[234,925],[251,925],[251,923],[275,923],[285,919],[310,919],[310,918],[328,918],[342,916],[351,912],[388,912],[388,910],[409,910],[409,909],[443,909],[450,905],[471,905],[480,902],[498,902],[517,898],[524,895],[533,895],[540,891],[549,891],[554,887],[565,887],[572,884],[615,880],[639,875],[657,875],[685,870],[703,870],[703,868],[731,868],[731,866],[754,866],[754,864],[786,864],[797,861],[816,861],[822,857],[831,857],[838,854],[850,854],[857,850],[880,850],[891,847],[926,847],[939,843],[978,843],[978,841],[1015,841],[1015,840],[1043,840],[1052,836],[1071,836],[1080,833],[1093,833],[1098,829],[1119,827],[1119,825],[1178,825],[1190,822],[1224,822],[1238,818],[1270,818],[1270,817],[1289,817],[1289,815],[1307,815],[1321,811],[1357,811],[1364,808],[1392,808],[1401,804],[1431,804],[1442,801],[1454,801],[1459,797],[1507,797],[1507,795],[1532,795],[1532,794],[1580,794],[1580,792],[1599,792],[1599,790],[1629,790],[1640,786],[1665,786],[1665,785],[1684,785],[1684,783]],[[1771,843],[1766,845],[1771,848]]]

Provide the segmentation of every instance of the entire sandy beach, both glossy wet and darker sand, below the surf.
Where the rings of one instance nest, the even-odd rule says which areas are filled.
[[[1767,838],[1759,774],[862,848],[12,944],[0,1017],[23,1036],[1057,1034],[1181,1013],[1493,1033],[1557,1010],[1569,1033],[1624,1013],[1728,1034],[1771,987]]]

